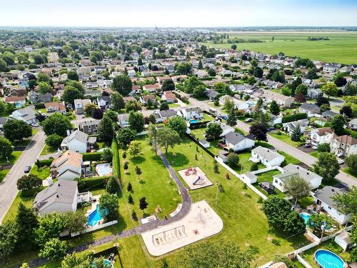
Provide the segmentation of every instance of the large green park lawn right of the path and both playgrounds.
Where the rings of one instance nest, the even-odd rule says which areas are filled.
[[[183,139],[181,144],[176,145],[174,149],[169,149],[167,158],[170,163],[173,163],[176,171],[198,166],[211,182],[221,183],[223,192],[218,194],[218,207],[215,206],[216,187],[191,191],[193,202],[206,200],[223,220],[223,231],[211,237],[209,239],[211,242],[225,239],[238,244],[242,249],[247,249],[248,244],[258,247],[257,264],[264,264],[271,260],[271,256],[275,254],[286,254],[307,243],[302,235],[284,239],[286,236],[283,234],[269,234],[268,221],[259,209],[261,205],[257,202],[258,195],[250,189],[244,190],[246,194],[242,194],[243,182],[233,177],[233,174],[230,174],[231,179],[225,179],[227,171],[223,167],[219,166],[219,173],[214,173],[213,159],[202,149],[199,149],[197,154],[198,160],[195,160],[195,148],[193,142]],[[176,157],[172,153],[175,153]],[[202,155],[206,159],[206,165]],[[273,239],[274,244],[269,242],[268,237]],[[166,259],[169,264],[175,264],[180,258],[179,256],[180,254],[174,253]],[[173,265],[173,267],[176,266]]]

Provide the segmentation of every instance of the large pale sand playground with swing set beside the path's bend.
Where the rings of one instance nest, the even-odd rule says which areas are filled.
[[[172,224],[144,232],[141,237],[153,256],[161,256],[180,247],[197,242],[223,229],[221,218],[206,201],[193,203],[190,212]]]

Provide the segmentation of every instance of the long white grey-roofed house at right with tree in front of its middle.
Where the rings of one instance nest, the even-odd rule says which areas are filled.
[[[283,173],[273,176],[273,186],[279,189],[281,192],[286,192],[284,184],[291,177],[301,177],[305,179],[306,182],[308,182],[310,185],[311,189],[316,189],[321,185],[321,176],[296,164],[288,164],[283,167],[283,170]]]

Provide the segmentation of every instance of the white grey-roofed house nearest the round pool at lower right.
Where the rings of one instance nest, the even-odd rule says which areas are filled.
[[[340,189],[337,187],[326,186],[323,189],[318,189],[315,194],[313,194],[314,202],[323,208],[323,210],[330,215],[339,224],[346,224],[350,219],[351,214],[343,214],[338,211],[336,203],[333,201],[332,197],[336,194],[343,194],[346,192],[345,189]]]

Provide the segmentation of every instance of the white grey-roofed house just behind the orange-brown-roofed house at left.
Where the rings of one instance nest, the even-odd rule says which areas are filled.
[[[85,153],[96,143],[96,137],[89,137],[88,134],[76,129],[61,143],[62,151],[71,150],[77,153]]]

